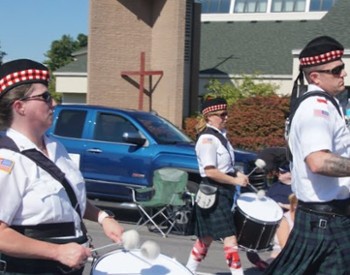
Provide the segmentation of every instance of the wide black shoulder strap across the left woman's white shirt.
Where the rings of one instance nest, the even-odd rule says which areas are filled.
[[[0,148],[9,149],[26,156],[35,162],[39,167],[48,172],[53,178],[59,181],[65,188],[73,208],[77,211],[79,217],[82,218],[80,206],[72,186],[67,181],[65,174],[61,171],[60,168],[57,167],[53,161],[48,159],[43,153],[36,149],[20,151],[15,142],[7,136],[0,137]]]

